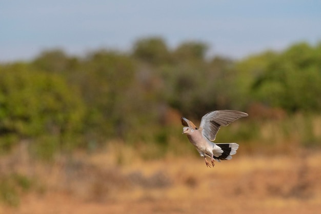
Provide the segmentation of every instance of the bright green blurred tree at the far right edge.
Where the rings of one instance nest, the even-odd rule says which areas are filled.
[[[250,98],[258,102],[280,107],[288,112],[318,111],[321,107],[321,65],[320,48],[306,43],[291,46],[280,53],[254,56],[246,63],[251,65],[248,72]],[[246,90],[244,91],[246,93]]]

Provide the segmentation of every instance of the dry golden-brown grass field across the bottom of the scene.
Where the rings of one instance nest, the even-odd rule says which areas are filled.
[[[11,155],[12,157],[12,155]],[[19,205],[0,213],[318,213],[321,152],[251,155],[207,168],[198,157],[139,159],[117,165],[108,152],[52,164],[28,155],[3,159],[32,180]]]

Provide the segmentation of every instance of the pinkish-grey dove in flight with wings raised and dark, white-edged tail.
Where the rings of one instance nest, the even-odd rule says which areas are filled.
[[[205,158],[206,166],[211,168],[206,157],[211,158],[211,164],[214,167],[214,161],[232,159],[232,155],[236,153],[239,146],[237,143],[213,143],[218,130],[221,126],[228,126],[233,121],[245,116],[248,114],[242,111],[214,110],[202,117],[199,128],[183,116],[180,119],[184,126],[182,134],[187,135],[200,157]]]

